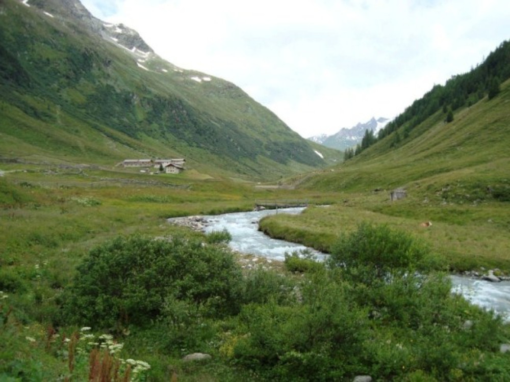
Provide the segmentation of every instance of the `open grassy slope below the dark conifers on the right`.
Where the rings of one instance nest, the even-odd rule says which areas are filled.
[[[486,97],[458,110],[453,122],[446,123],[444,114],[437,112],[418,125],[401,146],[392,148],[390,139],[381,140],[345,162],[340,172],[309,178],[307,186],[370,190],[420,181],[441,188],[466,181],[473,192],[489,185],[504,188],[510,185],[508,102],[510,81],[502,85],[496,98]]]

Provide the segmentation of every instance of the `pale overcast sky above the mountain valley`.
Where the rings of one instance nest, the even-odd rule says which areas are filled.
[[[395,117],[510,38],[508,0],[82,0],[304,138]]]

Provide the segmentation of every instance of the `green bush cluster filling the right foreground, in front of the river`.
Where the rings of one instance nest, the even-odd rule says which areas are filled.
[[[430,257],[403,232],[363,224],[305,273],[295,301],[244,306],[228,354],[268,380],[509,378],[507,326],[452,294]]]

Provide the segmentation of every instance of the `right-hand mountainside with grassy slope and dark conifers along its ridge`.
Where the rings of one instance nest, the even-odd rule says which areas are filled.
[[[416,100],[394,120],[397,122],[380,131],[375,142],[342,162],[336,169],[341,171],[310,176],[300,186],[346,192],[403,187],[421,197],[424,205],[432,201],[473,206],[487,200],[510,201],[509,58],[510,42],[505,42],[479,68],[453,77],[444,87],[436,85]],[[500,78],[495,92],[480,88],[490,81],[480,79],[479,69],[487,78]],[[458,87],[459,83],[463,87]],[[463,98],[465,103],[457,105],[452,121],[447,122],[448,113],[437,99],[448,105],[443,95],[453,94],[456,100],[457,87],[473,93]],[[458,222],[462,224],[462,219]],[[501,224],[508,227],[509,222]]]

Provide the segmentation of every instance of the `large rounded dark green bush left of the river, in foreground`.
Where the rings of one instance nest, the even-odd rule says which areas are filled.
[[[97,328],[144,325],[165,301],[205,305],[208,314],[239,310],[242,274],[233,254],[200,240],[118,237],[93,249],[66,293],[71,322]]]

